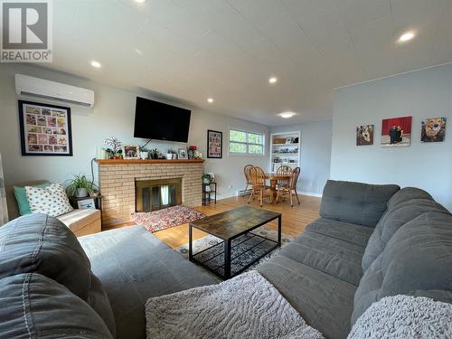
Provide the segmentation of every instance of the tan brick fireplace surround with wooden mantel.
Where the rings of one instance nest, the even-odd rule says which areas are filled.
[[[102,194],[102,227],[133,221],[137,211],[136,193],[141,182],[180,181],[182,203],[202,204],[202,159],[98,160],[99,189]]]

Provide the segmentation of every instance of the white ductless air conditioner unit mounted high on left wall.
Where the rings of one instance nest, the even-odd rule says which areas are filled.
[[[19,97],[34,97],[78,105],[94,107],[94,91],[64,83],[15,74],[15,92]]]

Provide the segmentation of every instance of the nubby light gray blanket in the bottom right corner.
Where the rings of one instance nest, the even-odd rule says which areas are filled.
[[[428,297],[383,297],[361,315],[348,339],[452,339],[452,305]]]

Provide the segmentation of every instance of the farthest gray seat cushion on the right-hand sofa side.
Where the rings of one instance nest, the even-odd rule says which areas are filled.
[[[370,227],[354,223],[319,218],[307,225],[305,231],[325,234],[331,238],[344,240],[364,248],[373,230]]]

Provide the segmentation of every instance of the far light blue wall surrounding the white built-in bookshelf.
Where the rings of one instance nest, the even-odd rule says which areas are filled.
[[[332,120],[271,128],[271,133],[301,131],[298,189],[302,193],[319,195],[324,190],[330,177],[332,128]]]

